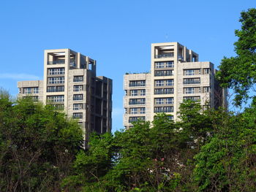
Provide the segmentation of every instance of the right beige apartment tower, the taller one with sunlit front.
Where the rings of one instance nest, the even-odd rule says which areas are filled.
[[[154,120],[165,112],[177,120],[178,107],[187,99],[203,107],[226,107],[226,91],[215,79],[214,64],[198,61],[198,54],[178,42],[151,45],[151,72],[124,75],[124,126]]]

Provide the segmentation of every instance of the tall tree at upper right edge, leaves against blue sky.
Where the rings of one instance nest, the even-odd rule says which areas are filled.
[[[256,9],[241,12],[241,30],[236,30],[236,56],[223,58],[217,78],[222,87],[233,88],[234,102],[241,105],[249,99],[249,91],[256,92]],[[255,97],[255,96],[254,96]]]

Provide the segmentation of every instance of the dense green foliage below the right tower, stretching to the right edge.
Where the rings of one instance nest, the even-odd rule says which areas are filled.
[[[91,137],[68,191],[256,191],[256,105],[239,115],[181,104],[115,135]]]

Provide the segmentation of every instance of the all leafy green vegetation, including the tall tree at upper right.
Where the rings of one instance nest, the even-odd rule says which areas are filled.
[[[234,58],[218,74],[236,104],[255,85],[256,9],[241,13]],[[256,191],[256,99],[240,114],[186,101],[115,134],[91,134],[83,150],[73,120],[0,89],[0,191]]]

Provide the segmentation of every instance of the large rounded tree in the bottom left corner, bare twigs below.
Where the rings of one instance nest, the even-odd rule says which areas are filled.
[[[1,94],[0,191],[60,191],[82,139],[63,113]]]

